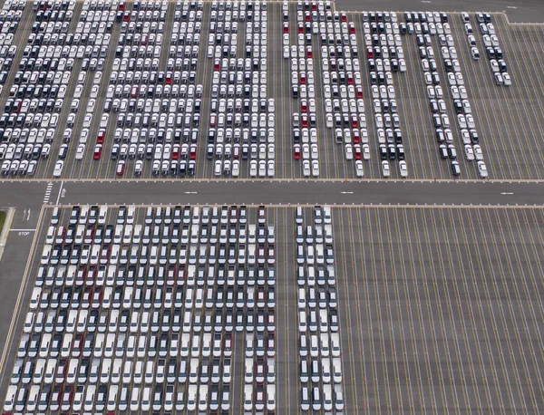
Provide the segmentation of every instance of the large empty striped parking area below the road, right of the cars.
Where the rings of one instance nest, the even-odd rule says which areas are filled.
[[[542,409],[539,209],[334,212],[347,407]]]

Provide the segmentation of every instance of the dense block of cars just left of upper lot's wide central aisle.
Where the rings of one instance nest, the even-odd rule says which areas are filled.
[[[210,12],[208,44],[215,52],[209,53],[214,72],[207,157],[214,160],[216,177],[238,177],[241,163],[248,159],[250,177],[272,178],[276,105],[267,94],[267,6],[257,2],[248,4],[250,14],[246,7],[237,11],[238,5],[232,11],[218,5]],[[238,51],[242,28],[245,50]]]

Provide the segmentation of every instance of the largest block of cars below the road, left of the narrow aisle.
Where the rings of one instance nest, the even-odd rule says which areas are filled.
[[[265,207],[251,216],[54,208],[4,410],[228,411],[234,333],[245,332],[244,409],[274,413],[275,230]],[[79,244],[91,253],[71,255]],[[175,255],[163,261],[162,247]]]

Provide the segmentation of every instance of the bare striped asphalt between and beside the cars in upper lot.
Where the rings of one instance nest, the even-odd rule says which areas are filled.
[[[471,5],[459,3],[459,8],[455,1],[448,2],[451,7],[447,10],[501,10],[491,7],[491,3],[478,3],[478,6],[471,9]],[[544,13],[541,12],[536,2],[515,2],[518,9],[508,9],[513,13],[521,10],[527,10],[527,13],[535,19]],[[352,10],[349,6],[336,4],[337,10]],[[418,5],[416,7],[416,5]],[[442,5],[445,2],[436,4],[411,4],[410,2],[397,2],[391,6],[384,7],[380,2],[375,4],[364,3],[365,10],[398,10],[399,21],[403,21],[403,10],[421,10],[423,5],[426,10],[443,10]],[[498,3],[500,5],[500,3]],[[427,7],[429,6],[429,7]],[[131,4],[128,4],[131,7]],[[162,53],[160,58],[160,70],[165,70],[166,58],[170,47],[171,27],[173,24],[173,4],[169,5],[169,13],[165,23],[164,39],[162,43]],[[69,32],[73,32],[78,21],[82,4],[78,3],[75,8],[73,21]],[[533,9],[537,9],[533,13]],[[296,5],[290,5],[289,10],[290,45],[296,44]],[[15,34],[15,43],[24,43],[24,40],[30,34],[30,28],[34,22],[34,13],[31,7],[24,11],[24,17]],[[207,57],[207,39],[209,35],[209,13],[210,6],[206,4],[203,11],[202,34],[199,45],[197,84],[204,87],[203,105],[201,111],[201,122],[199,126],[199,150],[197,152],[196,178],[212,179],[213,165],[215,160],[206,158],[206,140],[209,129],[209,98],[211,88],[211,75],[213,72],[213,59]],[[289,59],[283,58],[283,45],[281,42],[282,22],[281,5],[271,3],[267,11],[267,95],[276,102],[276,178],[277,179],[301,179],[303,177],[302,163],[300,160],[293,159],[292,142],[292,114],[300,111],[299,100],[291,97],[290,91],[290,73],[291,64]],[[484,47],[481,40],[481,34],[475,30],[477,45],[481,51],[481,60],[473,61],[470,55],[470,47],[466,41],[463,24],[460,14],[450,14],[450,24],[452,25],[452,36],[458,53],[458,59],[461,65],[461,72],[466,82],[466,88],[469,95],[469,101],[476,121],[476,129],[481,136],[481,147],[484,153],[484,159],[492,179],[544,179],[544,149],[539,140],[539,136],[544,131],[544,118],[542,109],[544,102],[539,91],[544,86],[544,76],[539,68],[544,64],[539,44],[544,42],[544,34],[540,27],[524,24],[509,24],[505,14],[493,14],[494,24],[497,28],[497,35],[500,40],[500,47],[504,52],[505,61],[508,65],[508,71],[512,77],[512,85],[509,88],[498,87],[493,82],[490,65],[484,56]],[[509,14],[510,18],[510,14]],[[364,88],[364,106],[367,120],[367,130],[369,135],[369,145],[371,150],[371,160],[364,161],[364,177],[370,179],[380,178],[382,175],[379,162],[379,153],[377,138],[374,128],[374,113],[372,111],[372,94],[368,79],[367,60],[364,56],[365,46],[363,34],[363,17],[361,14],[348,14],[348,21],[353,21],[356,27],[357,48],[361,62],[361,78]],[[541,19],[544,21],[544,19]],[[510,19],[511,23],[511,19]],[[473,14],[471,14],[472,27],[476,28]],[[245,24],[239,24],[238,50],[244,49]],[[120,34],[120,24],[114,24],[112,32],[112,45],[117,44]],[[432,36],[432,46],[434,53],[440,56],[440,47],[436,42],[436,36]],[[407,72],[393,73],[393,86],[396,92],[396,100],[401,120],[401,130],[403,131],[403,145],[408,163],[408,174],[410,178],[416,179],[450,179],[452,173],[447,160],[440,159],[438,155],[438,145],[434,139],[434,130],[432,128],[432,113],[429,110],[428,100],[426,98],[426,87],[423,82],[423,71],[421,70],[420,59],[418,55],[418,46],[415,35],[403,35],[403,52],[407,63]],[[112,47],[111,47],[112,48]],[[313,49],[315,56],[314,72],[316,79],[316,118],[317,118],[317,138],[319,149],[320,178],[324,179],[353,179],[355,178],[355,163],[345,159],[344,150],[341,145],[335,144],[334,129],[327,129],[325,126],[325,108],[323,92],[323,68],[321,65],[321,48],[318,36],[313,35]],[[109,51],[112,52],[112,51]],[[240,54],[240,53],[238,53]],[[18,48],[14,62],[18,63],[23,55],[23,48]],[[447,85],[446,72],[439,62],[438,72],[441,78],[442,88],[444,89],[448,115],[452,122],[452,132],[454,143],[458,153],[458,160],[461,165],[462,179],[480,179],[476,164],[464,159],[461,138],[456,128],[455,114],[452,111],[452,99]],[[108,53],[105,60],[103,73],[112,71],[113,53]],[[68,84],[68,96],[70,96],[77,84],[77,77],[81,71],[81,59],[75,60],[73,75]],[[5,90],[9,91],[9,86],[15,77],[15,70],[11,71],[8,81],[5,84]],[[93,72],[89,72],[84,84],[83,101],[89,99],[89,93],[92,88]],[[63,169],[63,179],[103,179],[115,178],[116,161],[110,158],[112,150],[112,135],[115,130],[117,114],[111,113],[111,120],[107,130],[107,137],[100,160],[92,159],[92,149],[94,146],[94,137],[99,130],[99,124],[102,117],[103,103],[108,87],[108,77],[102,78],[100,92],[96,101],[97,110],[92,119],[90,129],[90,141],[85,151],[83,160],[75,160],[77,149],[77,134],[74,140],[69,143],[68,156],[65,160]],[[0,97],[0,106],[3,106],[7,94]],[[60,114],[59,125],[65,125],[65,121],[70,113],[71,100],[65,100],[63,110]],[[75,122],[74,131],[79,131],[83,125],[85,111],[79,111]],[[57,129],[53,149],[49,159],[42,159],[38,163],[36,178],[50,179],[53,176],[54,164],[57,160],[58,150],[62,144],[63,129]],[[127,160],[127,169],[124,178],[133,178],[133,164],[131,159]],[[151,178],[151,160],[144,161],[143,178]],[[392,166],[392,178],[398,178],[396,166]],[[242,160],[240,168],[240,179],[249,177],[248,160]],[[188,178],[186,178],[188,179]]]

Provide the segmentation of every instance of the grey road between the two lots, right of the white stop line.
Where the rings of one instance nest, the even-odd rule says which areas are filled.
[[[354,181],[64,183],[70,204],[448,204],[541,205],[541,184]],[[189,193],[186,193],[189,192]],[[196,192],[196,193],[193,193]],[[346,193],[342,193],[346,192]],[[353,193],[351,193],[353,192]],[[507,193],[503,195],[501,193]],[[509,194],[512,193],[512,194]]]

